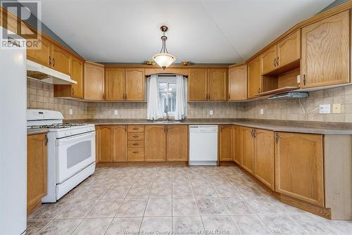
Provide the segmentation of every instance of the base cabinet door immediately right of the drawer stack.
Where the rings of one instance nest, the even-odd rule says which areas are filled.
[[[146,125],[144,127],[144,155],[147,162],[165,161],[165,126]]]

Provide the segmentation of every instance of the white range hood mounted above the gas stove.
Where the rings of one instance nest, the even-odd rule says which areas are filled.
[[[27,77],[50,84],[77,84],[70,75],[45,67],[39,63],[27,60]]]

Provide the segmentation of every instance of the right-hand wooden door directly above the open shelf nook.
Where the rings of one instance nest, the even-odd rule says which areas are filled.
[[[277,63],[279,67],[288,65],[301,58],[301,30],[284,38],[277,44]]]

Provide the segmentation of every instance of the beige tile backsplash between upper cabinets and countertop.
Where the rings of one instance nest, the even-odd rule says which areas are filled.
[[[341,104],[341,113],[320,114],[320,104]],[[146,103],[85,102],[54,98],[54,85],[27,79],[27,108],[58,110],[66,120],[84,118],[145,118]],[[260,114],[263,108],[264,113]],[[73,110],[73,115],[69,110]],[[115,115],[114,110],[118,110]],[[213,110],[213,115],[210,115]],[[188,103],[188,118],[256,118],[319,122],[352,122],[352,86],[312,91],[309,97],[246,103]]]

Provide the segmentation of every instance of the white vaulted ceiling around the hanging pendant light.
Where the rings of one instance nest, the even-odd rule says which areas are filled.
[[[238,63],[334,0],[42,0],[42,22],[89,61]]]

